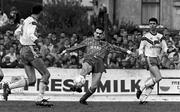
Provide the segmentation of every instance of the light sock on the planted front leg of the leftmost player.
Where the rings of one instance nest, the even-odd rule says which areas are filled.
[[[46,84],[44,84],[44,82],[40,81],[40,83],[39,83],[39,94],[37,97],[37,101],[43,100],[45,91],[46,91]]]

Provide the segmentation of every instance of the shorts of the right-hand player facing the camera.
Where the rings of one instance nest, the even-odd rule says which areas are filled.
[[[148,70],[151,66],[157,66],[159,68],[160,63],[161,61],[158,57],[146,57],[146,65]]]

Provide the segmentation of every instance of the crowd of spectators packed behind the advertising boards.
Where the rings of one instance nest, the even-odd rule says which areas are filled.
[[[14,13],[17,14],[17,12]],[[1,13],[0,25],[16,24],[13,16],[8,18],[4,13]],[[11,19],[13,21],[10,21]],[[18,24],[16,24],[16,26],[17,25]],[[109,36],[111,40],[110,43],[135,52],[137,57],[132,57],[125,53],[110,53],[106,59],[106,67],[109,69],[145,69],[146,64],[141,62],[138,57],[138,47],[141,38],[146,31],[147,30],[135,29],[128,32],[125,28],[119,28],[117,25],[112,26]],[[166,38],[168,48],[172,50],[171,53],[160,56],[160,68],[180,69],[179,34],[171,36],[171,33],[167,28],[164,28],[161,33]],[[80,43],[85,38],[91,38],[91,36],[79,36],[76,33],[67,35],[64,32],[61,32],[58,35],[55,32],[51,32],[46,37],[39,37],[42,43],[40,54],[45,65],[47,67],[58,68],[80,68],[83,61],[83,50],[66,53],[64,55],[61,55],[61,53],[66,48]],[[18,39],[13,35],[13,31],[6,30],[5,33],[0,33],[0,66],[2,68],[22,68],[23,64],[21,63],[19,55],[20,48],[21,45],[19,44]]]

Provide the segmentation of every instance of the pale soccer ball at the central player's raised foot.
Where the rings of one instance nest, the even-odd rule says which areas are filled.
[[[76,87],[82,87],[86,82],[86,79],[84,78],[84,76],[79,75],[74,79],[74,85]]]

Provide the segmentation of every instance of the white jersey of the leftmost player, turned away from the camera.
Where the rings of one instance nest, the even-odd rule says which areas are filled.
[[[15,34],[20,33],[19,41],[22,45],[35,45],[34,41],[37,37],[37,21],[35,18],[29,16],[22,25],[20,25]]]

